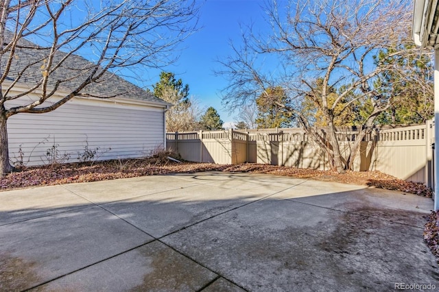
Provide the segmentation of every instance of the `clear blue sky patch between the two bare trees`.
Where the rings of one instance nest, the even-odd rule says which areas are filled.
[[[206,0],[200,9],[201,29],[182,44],[178,62],[164,69],[189,84],[190,95],[198,99],[203,108],[213,106],[224,122],[234,121],[237,113],[230,115],[222,107],[220,95],[227,82],[224,77],[214,75],[213,71],[221,68],[216,60],[230,55],[230,40],[235,44],[241,42],[240,25],[261,24],[264,19],[262,3],[258,0]],[[149,70],[147,77],[150,80],[144,84],[158,82],[160,72]]]

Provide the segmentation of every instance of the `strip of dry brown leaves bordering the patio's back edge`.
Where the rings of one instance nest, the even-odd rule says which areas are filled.
[[[143,175],[167,173],[194,173],[198,171],[231,171],[246,173],[270,173],[287,175],[294,178],[325,180],[360,184],[386,188],[394,191],[414,193],[431,197],[431,188],[417,182],[405,182],[379,171],[318,171],[313,169],[296,169],[276,165],[258,165],[244,163],[240,165],[216,165],[213,163],[173,162],[167,158],[145,158],[131,160],[110,160],[105,162],[70,163],[45,167],[30,167],[6,175],[0,179],[0,190],[29,186],[47,186],[68,184],[73,182],[94,182],[98,180],[114,180],[117,178],[133,178]]]

